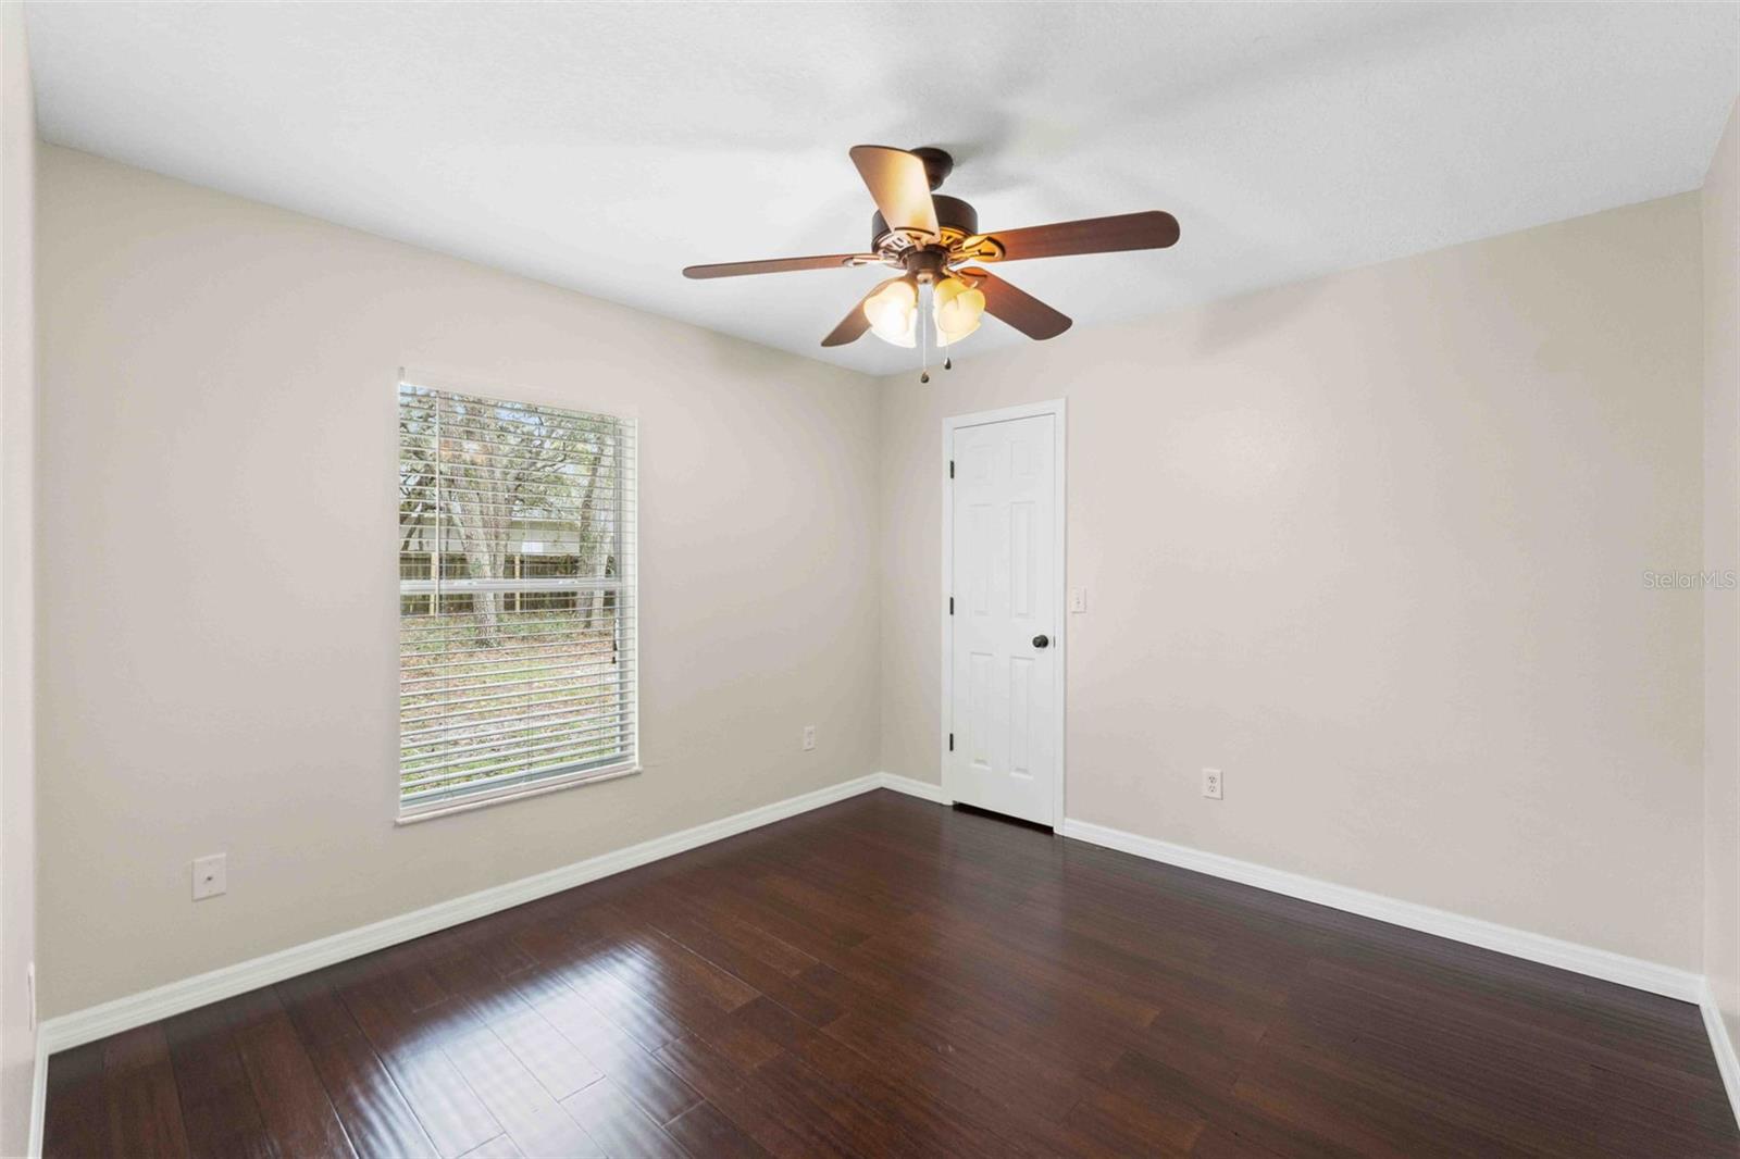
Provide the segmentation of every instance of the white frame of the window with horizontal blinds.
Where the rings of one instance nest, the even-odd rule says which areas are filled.
[[[574,414],[581,418],[609,419],[618,423],[625,444],[628,447],[626,459],[626,484],[618,482],[616,496],[616,527],[619,534],[619,546],[616,552],[616,569],[618,574],[612,580],[597,580],[593,583],[574,581],[562,583],[566,576],[553,578],[498,578],[498,580],[456,580],[442,578],[438,581],[440,592],[465,592],[465,590],[499,590],[503,593],[515,592],[525,593],[525,580],[550,580],[555,585],[552,592],[576,592],[592,593],[602,592],[606,595],[616,597],[616,653],[623,663],[623,673],[618,677],[621,680],[621,693],[618,698],[619,707],[626,707],[628,724],[625,729],[625,747],[626,755],[619,759],[606,759],[604,762],[576,762],[572,767],[557,766],[541,773],[503,773],[492,778],[484,778],[477,781],[480,788],[463,790],[463,787],[452,787],[438,797],[430,797],[425,802],[409,801],[404,792],[404,705],[400,703],[400,722],[398,722],[398,757],[395,760],[395,783],[398,787],[395,794],[397,816],[395,825],[412,825],[418,821],[428,821],[438,816],[449,816],[454,813],[468,813],[472,809],[482,809],[494,804],[503,804],[508,801],[522,801],[527,797],[541,797],[545,794],[562,792],[574,788],[578,785],[593,785],[599,781],[611,781],[623,776],[633,776],[642,771],[640,764],[640,592],[639,592],[639,571],[640,571],[640,527],[639,527],[639,510],[640,510],[640,419],[633,411],[606,409],[606,407],[588,407],[574,404],[572,400],[546,400],[550,392],[524,390],[515,386],[503,386],[485,383],[482,379],[456,379],[449,376],[425,374],[414,369],[400,369],[393,383],[393,414],[395,414],[395,466],[404,456],[404,444],[397,433],[397,418],[402,414],[404,392],[405,388],[416,388],[423,392],[433,392],[435,395],[459,395],[468,400],[498,402],[510,407],[534,407],[543,411],[560,411],[566,414]],[[621,461],[619,461],[621,463]],[[397,607],[398,607],[398,667],[402,679],[404,667],[404,600],[407,595],[425,595],[433,600],[437,590],[437,571],[438,569],[438,548],[430,552],[432,573],[428,578],[411,578],[402,574],[402,555],[395,559],[395,573],[398,574],[397,588]],[[423,592],[421,585],[430,585],[430,592]],[[543,585],[538,585],[539,590]],[[621,609],[628,609],[628,616],[621,614]]]

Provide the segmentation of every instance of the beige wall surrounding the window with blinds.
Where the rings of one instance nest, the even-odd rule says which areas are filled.
[[[875,767],[872,379],[61,148],[38,207],[44,1015]],[[393,827],[402,364],[640,418],[644,774]]]

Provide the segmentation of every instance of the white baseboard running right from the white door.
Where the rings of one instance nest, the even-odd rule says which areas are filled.
[[[1192,849],[1188,846],[1174,846],[1168,841],[1126,834],[1121,828],[1110,828],[1107,825],[1067,820],[1058,832],[1065,837],[1105,846],[1107,849],[1133,853],[1138,858],[1148,858],[1150,861],[1166,861],[1168,865],[1195,870],[1199,874],[1209,874],[1211,877],[1225,877],[1227,881],[1256,886],[1258,889],[1268,889],[1270,893],[1282,893],[1289,898],[1315,901],[1317,905],[1347,910],[1348,914],[1373,917],[1392,926],[1402,926],[1406,929],[1437,935],[1439,938],[1465,941],[1486,950],[1496,950],[1500,954],[1528,959],[1531,962],[1542,962],[1543,966],[1557,966],[1559,969],[1569,969],[1580,975],[1589,975],[1590,978],[1601,978],[1604,981],[1616,981],[1622,987],[1634,987],[1637,990],[1662,994],[1684,1002],[1698,1002],[1703,997],[1703,975],[1691,973],[1690,969],[1677,969],[1660,962],[1625,957],[1623,954],[1599,950],[1592,945],[1580,945],[1576,941],[1561,941],[1559,938],[1516,929],[1514,926],[1500,926],[1498,922],[1451,914],[1449,910],[1432,908],[1430,905],[1401,901],[1397,898],[1389,898],[1380,893],[1366,893],[1364,889],[1354,889],[1350,886],[1336,886],[1315,877],[1303,877],[1300,874],[1268,868],[1267,865],[1256,865],[1255,861],[1241,861],[1218,853],[1204,853],[1202,849]]]

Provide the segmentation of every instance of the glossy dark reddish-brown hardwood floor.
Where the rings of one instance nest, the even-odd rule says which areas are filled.
[[[56,1055],[49,1156],[1737,1156],[1684,1002],[877,792]]]

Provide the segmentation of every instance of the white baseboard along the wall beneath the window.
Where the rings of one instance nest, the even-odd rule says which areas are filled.
[[[546,874],[522,877],[520,881],[512,881],[503,886],[468,893],[463,898],[454,898],[452,901],[440,901],[411,914],[388,917],[374,922],[372,926],[346,929],[345,933],[336,933],[329,938],[306,941],[287,950],[264,954],[261,957],[237,962],[233,966],[223,966],[193,978],[171,981],[153,990],[103,1002],[101,1006],[90,1006],[87,1009],[73,1011],[71,1015],[49,1018],[42,1023],[37,1034],[37,1056],[38,1060],[45,1060],[56,1051],[94,1042],[96,1039],[120,1034],[122,1030],[143,1027],[160,1018],[169,1018],[209,1002],[218,1002],[237,994],[245,994],[247,990],[284,981],[285,978],[294,978],[311,969],[320,969],[322,966],[332,966],[360,954],[409,941],[411,938],[421,938],[423,935],[435,933],[437,929],[447,929],[449,926],[458,926],[459,922],[496,914],[498,910],[524,905],[525,901],[536,901],[538,898],[552,893],[583,886],[588,881],[609,877],[611,874],[621,874],[623,870],[635,868],[637,865],[646,865],[647,861],[658,861],[659,858],[668,858],[675,853],[684,853],[726,837],[734,837],[736,834],[760,828],[762,825],[771,825],[773,821],[781,821],[788,816],[797,816],[799,813],[809,813],[811,809],[820,809],[821,806],[833,804],[835,801],[856,797],[858,794],[867,794],[882,787],[882,774],[870,773],[868,776],[840,781],[839,785],[818,788],[799,797],[776,801],[773,804],[760,806],[759,809],[748,809],[746,813],[696,825],[694,828],[686,828],[680,834],[654,837],[652,841],[644,841],[637,846],[628,846],[626,849],[564,865],[562,868],[555,868]],[[45,1079],[45,1070],[47,1067],[38,1065],[38,1093]],[[38,1098],[38,1107],[31,1122],[33,1138],[37,1138],[38,1143],[42,1129],[40,1119]],[[37,1152],[33,1150],[31,1154]]]

